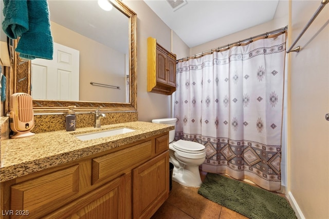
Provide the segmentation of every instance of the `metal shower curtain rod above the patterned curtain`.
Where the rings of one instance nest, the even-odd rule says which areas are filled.
[[[329,1],[329,0],[325,0],[325,1]],[[248,44],[248,43],[251,43],[253,39],[255,38],[259,38],[261,36],[265,36],[265,38],[268,38],[269,35],[273,35],[273,34],[276,34],[276,33],[279,33],[279,32],[285,32],[286,30],[288,29],[288,26],[285,26],[285,27],[282,27],[280,29],[276,29],[276,30],[272,30],[270,32],[266,32],[266,33],[262,33],[262,34],[259,34],[259,35],[256,35],[256,36],[252,36],[251,38],[247,38],[245,40],[240,40],[240,41],[237,41],[237,42],[234,42],[234,43],[230,43],[230,44],[227,44],[225,46],[220,46],[220,47],[216,47],[214,49],[209,49],[207,51],[203,51],[203,52],[200,52],[200,53],[197,53],[197,54],[194,54],[192,56],[188,56],[188,57],[185,57],[185,58],[181,58],[179,60],[177,60],[176,62],[179,62],[179,61],[187,61],[189,60],[190,58],[198,58],[198,57],[202,57],[204,56],[205,54],[207,53],[212,53],[214,51],[220,51],[221,49],[229,49],[230,46],[232,45],[236,45],[236,46],[240,46],[242,44]]]

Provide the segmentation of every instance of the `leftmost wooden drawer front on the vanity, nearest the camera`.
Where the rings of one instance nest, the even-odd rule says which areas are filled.
[[[28,211],[29,216],[42,215],[78,192],[79,165],[75,165],[13,185],[10,207],[14,212]]]

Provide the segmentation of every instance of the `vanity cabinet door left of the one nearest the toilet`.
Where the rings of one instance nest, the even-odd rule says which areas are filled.
[[[46,218],[125,218],[125,177],[108,182]]]

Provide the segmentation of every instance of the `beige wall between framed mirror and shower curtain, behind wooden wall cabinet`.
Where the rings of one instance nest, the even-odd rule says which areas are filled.
[[[171,117],[172,97],[147,92],[147,39],[157,42],[177,56],[188,56],[188,47],[143,1],[124,1],[137,13],[137,110],[139,121]],[[185,54],[184,54],[185,53]]]

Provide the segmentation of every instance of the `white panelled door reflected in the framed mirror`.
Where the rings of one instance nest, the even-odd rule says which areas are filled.
[[[53,44],[53,60],[31,61],[31,96],[44,100],[79,100],[79,51]]]

